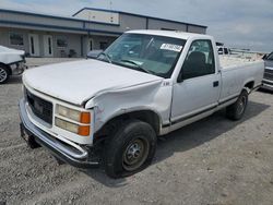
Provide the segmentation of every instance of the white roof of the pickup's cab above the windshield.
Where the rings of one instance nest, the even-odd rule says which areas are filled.
[[[162,31],[162,29],[134,29],[126,32],[129,34],[149,34],[149,35],[157,35],[157,36],[168,36],[175,38],[189,39],[190,37],[211,37],[204,34],[195,34],[180,31]]]

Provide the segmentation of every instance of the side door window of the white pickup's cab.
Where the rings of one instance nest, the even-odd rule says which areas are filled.
[[[182,65],[183,80],[215,73],[215,62],[211,40],[194,40]]]

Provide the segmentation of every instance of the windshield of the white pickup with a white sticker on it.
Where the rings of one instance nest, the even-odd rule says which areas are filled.
[[[180,38],[123,34],[97,59],[167,79],[185,44]]]

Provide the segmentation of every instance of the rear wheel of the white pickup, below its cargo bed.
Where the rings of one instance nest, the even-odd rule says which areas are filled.
[[[244,89],[238,99],[226,108],[226,117],[230,120],[240,120],[248,105],[248,92]]]

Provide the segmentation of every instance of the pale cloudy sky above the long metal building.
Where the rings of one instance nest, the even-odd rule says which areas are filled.
[[[226,46],[273,51],[273,0],[0,0],[0,8],[71,16],[84,7],[209,26]]]

